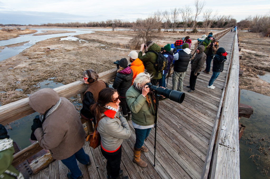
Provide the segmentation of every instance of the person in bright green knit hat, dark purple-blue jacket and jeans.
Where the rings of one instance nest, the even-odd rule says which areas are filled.
[[[166,75],[170,69],[171,62],[173,61],[173,52],[171,52],[170,44],[165,45],[164,49],[163,49],[163,51],[161,51],[161,53],[163,54],[164,57],[167,58],[168,66],[165,70],[163,70],[162,77],[161,77],[161,79],[159,79],[158,84],[160,87],[162,86],[162,87],[166,88],[165,78],[166,78]]]

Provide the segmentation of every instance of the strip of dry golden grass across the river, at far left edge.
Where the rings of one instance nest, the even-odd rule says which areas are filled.
[[[1,29],[0,30],[0,40],[8,40],[10,38],[15,38],[18,37],[19,35],[24,35],[24,34],[32,34],[35,33],[36,30],[31,30],[31,29],[8,29],[6,30]]]

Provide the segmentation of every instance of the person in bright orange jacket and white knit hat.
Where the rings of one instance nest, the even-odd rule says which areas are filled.
[[[131,62],[130,68],[133,73],[132,82],[130,85],[133,85],[133,81],[136,78],[136,76],[139,73],[144,72],[144,66],[143,62],[138,58],[138,53],[136,51],[131,51],[127,56],[129,56],[129,61]]]

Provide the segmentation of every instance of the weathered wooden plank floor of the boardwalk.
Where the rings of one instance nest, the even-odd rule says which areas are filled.
[[[195,92],[188,93],[186,86],[189,85],[191,66],[189,64],[183,85],[183,92],[185,92],[184,102],[178,104],[170,100],[160,101],[155,167],[153,167],[154,128],[145,142],[149,152],[141,155],[141,158],[148,165],[146,168],[141,168],[132,162],[133,146],[136,137],[131,121],[129,121],[132,134],[122,144],[121,169],[124,171],[123,176],[128,175],[131,179],[201,178],[227,75],[234,35],[235,33],[228,32],[218,40],[219,47],[225,48],[229,55],[227,55],[224,71],[214,81],[215,89],[207,88],[212,72],[210,71],[210,74],[202,72],[197,78]],[[171,87],[172,77],[169,78],[168,82],[168,88],[171,89]],[[85,143],[83,148],[90,156],[92,162],[92,165],[88,168],[79,163],[79,168],[83,172],[84,178],[106,178],[106,159],[102,156],[100,148],[89,148],[88,142]],[[48,168],[41,170],[31,178],[63,179],[66,178],[67,173],[67,167],[62,162],[56,160],[50,163]]]

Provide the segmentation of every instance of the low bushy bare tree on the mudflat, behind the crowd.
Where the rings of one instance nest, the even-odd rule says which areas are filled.
[[[140,47],[140,44],[146,43],[149,40],[159,38],[157,30],[159,28],[160,23],[152,15],[146,19],[137,19],[131,28],[136,33],[136,36],[130,40],[130,43],[134,45],[133,49]]]

